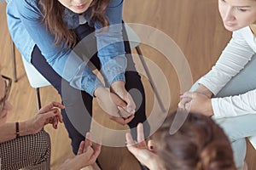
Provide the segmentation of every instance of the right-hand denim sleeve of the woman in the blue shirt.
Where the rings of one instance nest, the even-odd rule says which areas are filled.
[[[103,28],[95,24],[98,57],[102,65],[102,76],[106,85],[116,82],[125,82],[127,60],[122,34],[123,0],[111,0],[106,9],[109,27]]]

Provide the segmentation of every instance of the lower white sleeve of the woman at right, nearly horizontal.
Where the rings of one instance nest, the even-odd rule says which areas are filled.
[[[213,98],[214,117],[242,116],[256,114],[256,90],[224,98]]]

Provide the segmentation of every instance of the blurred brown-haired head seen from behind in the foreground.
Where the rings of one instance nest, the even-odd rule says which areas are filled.
[[[189,113],[183,126],[171,135],[174,116],[167,117],[153,136],[166,169],[236,169],[230,142],[211,118]]]

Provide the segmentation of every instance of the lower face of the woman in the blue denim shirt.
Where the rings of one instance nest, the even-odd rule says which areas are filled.
[[[64,7],[69,8],[74,13],[84,13],[93,0],[58,0]]]

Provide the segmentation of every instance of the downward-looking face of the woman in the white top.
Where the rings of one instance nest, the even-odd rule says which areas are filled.
[[[228,31],[236,31],[256,20],[256,0],[218,0],[218,10]]]

